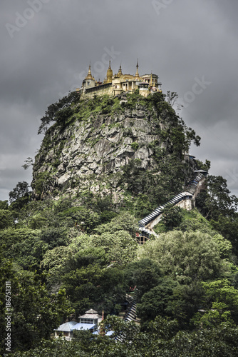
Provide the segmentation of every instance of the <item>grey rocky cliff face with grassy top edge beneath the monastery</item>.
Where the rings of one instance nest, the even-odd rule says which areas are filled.
[[[181,158],[186,148],[176,149],[172,132],[176,127],[184,138],[184,129],[175,113],[162,104],[165,108],[158,110],[152,101],[135,94],[80,101],[71,118],[63,125],[56,122],[46,132],[33,166],[31,186],[36,198],[58,196],[62,190],[76,193],[86,189],[92,178],[94,191],[97,181],[103,184],[109,177],[120,191],[122,167],[131,160],[159,172],[158,150],[166,154],[177,150]]]

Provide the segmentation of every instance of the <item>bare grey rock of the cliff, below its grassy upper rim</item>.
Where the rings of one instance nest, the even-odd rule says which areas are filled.
[[[122,96],[120,101],[126,103],[127,97]],[[34,195],[57,196],[62,189],[77,191],[87,186],[91,175],[94,175],[94,186],[96,178],[103,175],[108,178],[115,174],[116,181],[117,174],[131,159],[140,160],[143,169],[153,169],[151,144],[156,142],[169,150],[167,139],[155,134],[168,125],[148,107],[136,104],[133,109],[123,109],[122,104],[116,114],[91,114],[63,130],[56,124],[51,126],[33,166]]]

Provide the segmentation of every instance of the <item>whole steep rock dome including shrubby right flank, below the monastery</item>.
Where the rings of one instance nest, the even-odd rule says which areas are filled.
[[[185,153],[190,142],[199,144],[200,138],[160,93],[148,98],[95,96],[61,109],[54,121],[33,166],[36,198],[62,191],[75,194],[88,186],[93,193],[108,194],[113,186],[116,202],[123,199],[125,188],[150,191],[143,181],[152,174],[149,181],[167,189],[161,198],[166,199],[190,179],[192,164],[185,161]],[[138,181],[137,188],[128,176]]]

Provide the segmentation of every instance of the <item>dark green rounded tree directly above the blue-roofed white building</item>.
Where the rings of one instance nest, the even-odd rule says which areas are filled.
[[[108,266],[101,247],[86,248],[69,257],[58,281],[63,281],[70,300],[80,313],[92,305],[99,311],[104,309],[111,313],[125,300],[125,273],[118,266]]]

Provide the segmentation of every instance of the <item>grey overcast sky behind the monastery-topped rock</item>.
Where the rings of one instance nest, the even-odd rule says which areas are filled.
[[[0,199],[41,145],[49,104],[81,86],[89,61],[113,72],[160,76],[180,116],[202,137],[190,154],[212,161],[238,196],[237,0],[1,0]]]

